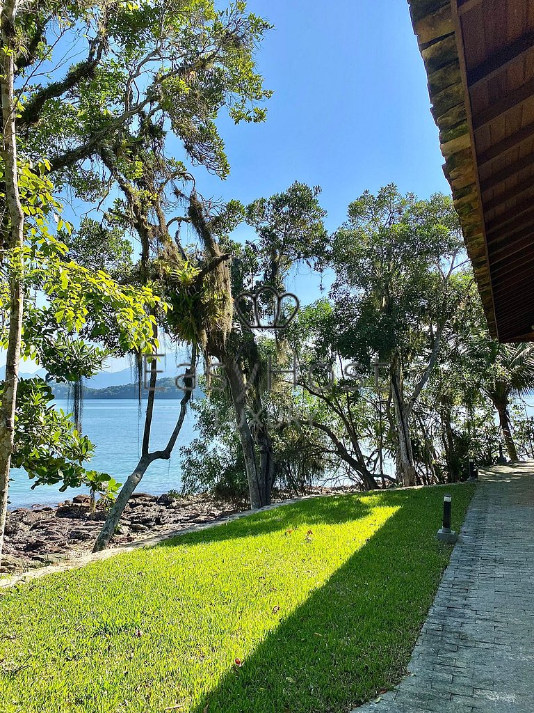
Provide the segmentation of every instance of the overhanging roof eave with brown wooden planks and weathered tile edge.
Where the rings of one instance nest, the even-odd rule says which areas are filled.
[[[490,332],[534,340],[534,2],[409,5]]]

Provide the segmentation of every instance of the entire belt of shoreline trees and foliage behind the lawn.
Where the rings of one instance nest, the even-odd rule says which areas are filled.
[[[252,508],[277,486],[442,483],[500,448],[531,454],[515,399],[534,383],[533,349],[488,338],[450,198],[386,185],[355,197],[329,235],[318,186],[248,205],[201,195],[197,167],[230,171],[217,118],[263,121],[271,96],[256,68],[270,26],[244,2],[10,0],[0,24],[0,555],[11,463],[35,483],[115,494],[113,473],[90,470],[80,409],[110,356],[135,364],[138,395],[147,359],[150,389],[139,462],[96,549],[191,411],[200,437],[182,452],[184,487]],[[72,197],[92,217],[64,220]],[[297,311],[278,296],[303,268],[325,288]],[[156,451],[150,355],[164,341],[190,364]],[[19,384],[21,357],[68,384],[72,419],[43,379]],[[192,399],[197,381],[206,399]]]

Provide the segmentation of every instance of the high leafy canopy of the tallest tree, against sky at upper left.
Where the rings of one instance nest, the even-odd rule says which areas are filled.
[[[60,21],[62,46],[75,39],[77,57],[64,86],[26,86],[20,127],[28,155],[51,156],[63,180],[95,198],[103,186],[83,159],[98,157],[102,144],[130,150],[132,116],[150,112],[155,125],[169,126],[182,141],[193,163],[228,175],[216,119],[221,110],[236,123],[265,118],[271,91],[263,88],[254,54],[270,27],[266,21],[248,14],[241,1],[226,9],[211,0],[45,5],[37,21],[46,29]],[[29,38],[36,29],[28,20],[22,14],[19,22]],[[42,45],[19,73],[20,83],[45,53],[41,76],[57,62],[51,34],[43,33]]]

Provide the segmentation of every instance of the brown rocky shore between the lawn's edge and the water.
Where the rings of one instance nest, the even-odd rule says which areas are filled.
[[[310,488],[308,495],[350,492],[352,488]],[[290,498],[278,493],[276,501]],[[246,511],[245,504],[218,501],[208,493],[194,496],[134,493],[120,519],[110,546],[121,547],[166,531],[211,523]],[[57,508],[18,508],[7,516],[0,573],[19,573],[90,553],[106,518],[104,510],[90,513],[88,495],[75,496]]]

